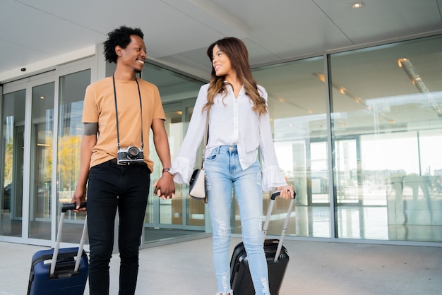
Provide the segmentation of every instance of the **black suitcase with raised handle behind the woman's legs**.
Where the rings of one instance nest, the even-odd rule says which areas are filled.
[[[282,279],[284,278],[285,270],[287,269],[287,264],[289,263],[289,254],[287,253],[287,248],[285,248],[285,246],[282,244],[282,241],[284,241],[285,238],[290,213],[292,212],[294,205],[294,197],[296,196],[296,193],[294,193],[294,197],[292,200],[290,200],[289,210],[287,212],[284,227],[282,228],[280,239],[265,239],[270,216],[272,215],[273,204],[275,203],[275,198],[277,195],[279,195],[279,193],[279,191],[273,193],[270,198],[270,204],[268,206],[268,212],[263,226],[264,252],[268,265],[268,284],[270,287],[270,294],[272,295],[279,294]],[[249,260],[247,260],[246,250],[242,242],[238,243],[238,245],[234,248],[232,260],[230,260],[230,275],[230,285],[232,287],[233,294],[255,294],[255,289],[253,287],[249,270]]]

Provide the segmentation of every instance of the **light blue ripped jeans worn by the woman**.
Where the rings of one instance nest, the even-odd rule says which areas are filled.
[[[234,188],[241,218],[242,240],[249,259],[253,286],[258,295],[269,295],[268,270],[263,250],[263,193],[258,160],[243,170],[237,146],[215,148],[204,162],[208,205],[213,231],[213,264],[217,294],[232,294],[230,286],[230,208]]]

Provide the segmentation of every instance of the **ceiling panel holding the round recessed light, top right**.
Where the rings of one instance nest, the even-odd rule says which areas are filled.
[[[347,0],[314,1],[353,44],[442,29],[436,0],[364,0],[358,9]]]

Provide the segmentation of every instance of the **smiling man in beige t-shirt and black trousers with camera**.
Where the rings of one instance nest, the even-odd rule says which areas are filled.
[[[138,276],[138,248],[150,188],[153,162],[149,159],[149,131],[162,163],[162,177],[154,194],[172,198],[171,160],[157,87],[136,78],[143,70],[146,49],[140,29],[121,26],[109,32],[104,56],[117,64],[112,77],[92,83],[85,92],[80,176],[73,203],[85,200],[88,182],[90,294],[109,294],[109,262],[114,219],[119,213],[121,258],[119,294],[134,294]]]

